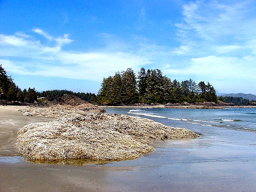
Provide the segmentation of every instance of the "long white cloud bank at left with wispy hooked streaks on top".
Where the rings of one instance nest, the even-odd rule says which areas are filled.
[[[37,29],[38,33],[50,38],[50,35]],[[100,82],[103,77],[114,75],[116,71],[131,67],[139,70],[150,63],[148,58],[130,52],[73,52],[64,51],[61,47],[72,42],[67,34],[63,37],[51,38],[55,46],[46,46],[35,38],[17,35],[0,34],[0,60],[8,72],[22,75],[61,77]],[[21,48],[22,47],[22,48]],[[18,62],[16,58],[22,58]]]

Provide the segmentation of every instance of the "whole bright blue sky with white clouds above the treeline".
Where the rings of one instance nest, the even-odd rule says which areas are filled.
[[[0,0],[0,64],[38,91],[97,93],[144,67],[256,94],[256,1]]]

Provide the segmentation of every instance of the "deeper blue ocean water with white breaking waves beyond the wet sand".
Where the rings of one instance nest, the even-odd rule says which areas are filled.
[[[256,108],[224,108],[224,109],[107,109],[132,116],[150,118],[168,126],[190,129],[232,129],[256,132]]]

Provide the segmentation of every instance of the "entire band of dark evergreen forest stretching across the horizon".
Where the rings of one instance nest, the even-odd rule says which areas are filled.
[[[0,65],[0,100],[34,103],[44,100],[59,100],[64,94],[72,94],[92,104],[129,105],[151,103],[197,103],[217,102],[217,100],[244,106],[249,101],[242,97],[216,96],[214,87],[203,81],[196,84],[189,79],[178,82],[163,76],[161,70],[140,69],[138,75],[131,68],[123,72],[116,72],[114,76],[104,78],[98,95],[94,93],[72,92],[69,90],[48,90],[37,92],[35,88],[21,90],[11,76]],[[38,98],[44,98],[38,100]]]

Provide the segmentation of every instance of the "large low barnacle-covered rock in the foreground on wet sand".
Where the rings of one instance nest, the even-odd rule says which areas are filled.
[[[149,145],[153,140],[185,137],[198,134],[145,118],[80,110],[52,122],[24,126],[16,146],[32,160],[126,160],[154,150]]]

